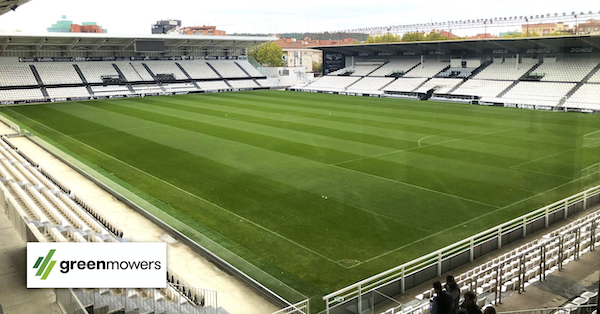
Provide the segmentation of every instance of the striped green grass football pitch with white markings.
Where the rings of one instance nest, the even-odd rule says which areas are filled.
[[[600,115],[280,91],[0,112],[308,296],[600,182]]]

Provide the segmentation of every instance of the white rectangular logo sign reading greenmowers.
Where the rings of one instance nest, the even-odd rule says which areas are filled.
[[[166,278],[166,243],[27,243],[27,288],[165,288]]]

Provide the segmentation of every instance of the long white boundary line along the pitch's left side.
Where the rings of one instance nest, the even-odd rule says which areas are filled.
[[[260,224],[258,224],[258,223],[256,223],[256,222],[254,222],[254,221],[252,221],[252,220],[249,220],[249,219],[247,219],[247,218],[245,218],[245,217],[242,217],[242,216],[240,216],[240,215],[238,215],[238,214],[236,214],[236,213],[234,213],[234,212],[232,212],[232,211],[230,211],[230,210],[226,209],[225,207],[222,207],[222,206],[220,206],[220,205],[218,205],[218,204],[215,204],[215,203],[213,203],[213,202],[211,202],[211,201],[209,201],[209,200],[207,200],[207,199],[204,199],[204,198],[202,198],[202,197],[200,197],[200,196],[198,196],[198,195],[196,195],[196,194],[193,194],[193,193],[191,193],[191,192],[189,192],[189,191],[187,191],[187,190],[185,190],[185,189],[183,189],[183,188],[180,188],[180,187],[178,187],[178,186],[176,186],[176,185],[174,185],[174,184],[172,184],[172,183],[170,183],[170,182],[168,182],[168,181],[165,181],[164,179],[161,179],[161,178],[159,178],[159,177],[156,177],[156,176],[154,176],[154,175],[152,175],[152,174],[150,174],[150,173],[148,173],[148,172],[146,172],[146,171],[144,171],[144,170],[141,170],[141,169],[139,169],[139,168],[137,168],[137,167],[135,167],[135,166],[133,166],[133,165],[131,165],[131,164],[128,164],[128,163],[124,162],[123,160],[121,160],[121,159],[119,159],[119,158],[116,158],[116,157],[114,157],[114,156],[112,156],[112,155],[109,155],[109,154],[107,154],[107,153],[105,153],[105,152],[103,152],[103,151],[101,151],[101,150],[98,150],[98,149],[97,149],[97,148],[95,148],[95,147],[92,147],[92,146],[90,146],[90,145],[88,145],[88,144],[86,144],[86,143],[83,143],[83,142],[79,141],[78,139],[75,139],[75,138],[73,138],[73,137],[71,137],[71,136],[69,136],[69,135],[67,135],[67,134],[64,134],[64,133],[62,133],[62,132],[60,132],[60,131],[58,131],[58,130],[55,130],[55,129],[53,129],[53,128],[51,128],[51,127],[49,127],[49,126],[47,126],[47,125],[45,125],[45,124],[43,124],[43,123],[41,123],[41,122],[38,122],[38,121],[36,121],[36,120],[33,120],[33,119],[31,119],[31,118],[29,118],[29,117],[27,117],[27,116],[24,116],[24,115],[22,115],[22,114],[20,114],[20,113],[18,113],[18,112],[16,112],[16,111],[14,111],[14,110],[12,110],[12,109],[8,109],[8,110],[10,110],[10,111],[14,112],[15,114],[18,114],[18,115],[20,115],[20,116],[22,116],[22,117],[24,117],[24,118],[26,118],[26,119],[28,119],[28,120],[31,120],[31,121],[35,122],[36,124],[39,124],[39,125],[41,125],[41,126],[43,126],[43,127],[47,128],[47,129],[50,129],[50,130],[52,130],[52,131],[54,131],[54,132],[56,132],[56,133],[62,134],[64,137],[67,137],[67,138],[69,138],[69,139],[71,139],[71,140],[73,140],[73,141],[75,141],[75,142],[77,142],[77,143],[79,143],[79,144],[81,144],[81,145],[83,145],[83,146],[85,146],[85,147],[88,147],[88,148],[90,148],[90,149],[92,149],[92,150],[94,150],[94,151],[98,152],[99,154],[102,154],[102,155],[104,155],[104,156],[106,156],[106,157],[109,157],[109,158],[111,158],[111,159],[113,159],[113,160],[115,160],[115,161],[117,161],[117,162],[120,162],[120,163],[122,163],[122,164],[124,164],[124,165],[126,165],[126,166],[128,166],[128,167],[130,167],[130,168],[132,168],[132,169],[134,169],[134,170],[136,170],[136,171],[139,171],[140,173],[143,173],[144,175],[146,175],[146,176],[148,176],[148,177],[150,177],[150,178],[153,178],[153,179],[155,179],[155,180],[157,180],[157,181],[160,181],[160,182],[162,182],[162,183],[164,183],[164,184],[166,184],[166,185],[168,185],[168,186],[171,186],[171,187],[173,187],[173,188],[175,188],[175,189],[177,189],[177,190],[179,190],[179,191],[181,191],[181,192],[183,192],[183,193],[185,193],[185,194],[188,194],[188,195],[190,195],[190,196],[192,196],[192,197],[194,197],[194,198],[196,198],[196,199],[198,199],[198,200],[200,200],[200,201],[202,201],[202,202],[204,202],[204,203],[206,203],[206,204],[209,204],[209,205],[211,205],[211,206],[213,206],[213,207],[216,207],[216,208],[218,208],[218,209],[220,209],[220,210],[222,210],[222,211],[225,211],[225,212],[227,212],[227,213],[229,213],[229,214],[231,214],[231,215],[235,216],[236,218],[239,218],[239,219],[241,219],[241,220],[244,220],[244,221],[246,221],[246,222],[248,222],[248,223],[250,223],[250,224],[254,225],[255,227],[257,227],[257,228],[259,228],[259,229],[261,229],[261,230],[264,230],[264,231],[266,231],[266,232],[268,232],[268,233],[271,233],[271,234],[273,234],[273,235],[275,235],[275,236],[277,236],[277,237],[279,237],[279,238],[281,238],[281,239],[283,239],[283,240],[286,240],[286,241],[288,241],[288,242],[290,242],[290,243],[292,243],[292,244],[294,244],[294,245],[296,245],[296,246],[298,246],[298,247],[300,247],[300,248],[302,248],[302,249],[304,249],[304,250],[306,250],[306,251],[308,251],[308,252],[311,252],[311,253],[313,253],[313,254],[315,254],[315,255],[317,255],[317,256],[319,256],[319,257],[323,258],[323,259],[326,259],[326,260],[328,260],[328,261],[330,261],[330,262],[332,262],[332,263],[334,263],[334,264],[336,264],[336,265],[338,265],[338,266],[340,266],[340,267],[343,267],[343,268],[346,268],[346,269],[349,269],[349,268],[351,268],[351,267],[344,266],[343,264],[340,264],[340,263],[338,263],[337,261],[335,261],[335,260],[333,260],[333,259],[331,259],[331,258],[329,258],[329,257],[327,257],[327,256],[325,256],[325,255],[323,255],[323,254],[321,254],[321,253],[319,253],[319,252],[316,252],[316,251],[314,251],[314,250],[312,250],[312,249],[310,249],[310,248],[308,248],[308,247],[306,247],[306,246],[304,246],[304,245],[302,245],[302,244],[300,244],[300,243],[298,243],[298,242],[296,242],[296,241],[294,241],[294,240],[291,240],[291,239],[289,239],[289,238],[287,238],[287,237],[285,237],[285,236],[283,236],[283,235],[281,235],[281,234],[279,234],[279,233],[277,233],[277,232],[275,232],[275,231],[273,231],[273,230],[271,230],[271,229],[268,229],[268,228],[266,228],[266,227],[264,227],[264,226],[262,226],[262,225],[260,225]]]

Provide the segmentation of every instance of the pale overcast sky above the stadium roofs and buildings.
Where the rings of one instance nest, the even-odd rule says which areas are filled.
[[[572,11],[598,13],[600,5],[589,0],[31,0],[14,12],[1,15],[0,30],[45,33],[47,27],[66,15],[76,24],[97,22],[110,34],[124,35],[150,34],[151,25],[163,19],[181,20],[183,26],[215,25],[227,34],[335,32],[462,19],[570,14]],[[454,33],[465,35],[458,30]]]

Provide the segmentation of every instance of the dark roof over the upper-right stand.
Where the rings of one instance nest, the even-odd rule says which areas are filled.
[[[495,39],[461,39],[445,41],[418,41],[406,43],[377,43],[363,45],[320,46],[326,53],[342,53],[345,55],[403,55],[405,52],[415,55],[427,54],[431,51],[452,52],[470,51],[482,53],[488,50],[507,50],[507,53],[519,53],[527,49],[544,49],[547,52],[561,52],[567,48],[592,47],[600,52],[600,36],[577,35],[557,37],[528,38],[495,38]]]

